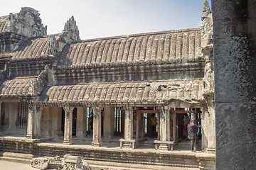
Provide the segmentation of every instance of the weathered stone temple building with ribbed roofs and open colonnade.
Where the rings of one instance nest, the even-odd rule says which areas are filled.
[[[0,17],[0,159],[72,154],[92,169],[215,169],[207,1],[201,28],[91,40],[80,40],[73,16],[47,35],[39,15],[23,7]],[[202,125],[201,152],[181,140],[184,114]]]

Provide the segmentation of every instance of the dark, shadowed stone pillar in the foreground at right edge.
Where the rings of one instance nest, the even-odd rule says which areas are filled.
[[[216,169],[256,167],[256,1],[212,1]]]

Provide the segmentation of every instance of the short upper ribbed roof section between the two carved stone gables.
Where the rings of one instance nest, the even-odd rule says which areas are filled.
[[[41,57],[48,52],[48,37],[21,40],[14,50],[11,60],[24,60]]]

